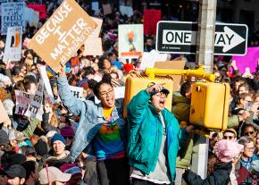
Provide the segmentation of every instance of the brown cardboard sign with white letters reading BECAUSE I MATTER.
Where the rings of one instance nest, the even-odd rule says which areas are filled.
[[[67,63],[96,28],[74,0],[64,0],[30,41],[32,48],[54,71]]]

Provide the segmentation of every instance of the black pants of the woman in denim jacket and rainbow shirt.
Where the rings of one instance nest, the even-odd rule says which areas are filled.
[[[106,159],[97,162],[96,167],[101,185],[129,185],[127,158]]]

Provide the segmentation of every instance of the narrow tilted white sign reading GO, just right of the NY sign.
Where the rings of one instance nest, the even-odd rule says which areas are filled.
[[[42,121],[42,114],[43,114],[43,80],[39,80],[38,87],[34,97],[32,98],[29,107],[25,113],[26,116],[29,118],[37,118],[39,121]]]

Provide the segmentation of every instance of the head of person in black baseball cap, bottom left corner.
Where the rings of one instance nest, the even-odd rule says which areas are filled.
[[[7,168],[4,173],[7,176],[7,181],[12,185],[24,184],[26,178],[26,171],[20,164],[13,164]]]

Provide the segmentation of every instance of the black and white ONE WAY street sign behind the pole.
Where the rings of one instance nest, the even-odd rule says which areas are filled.
[[[246,55],[247,26],[216,23],[214,55]],[[195,54],[197,23],[189,21],[159,21],[156,50],[160,53]]]

